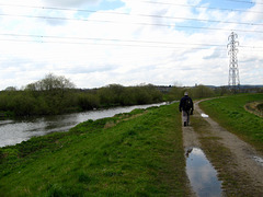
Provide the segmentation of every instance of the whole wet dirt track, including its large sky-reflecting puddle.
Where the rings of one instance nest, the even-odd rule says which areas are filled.
[[[263,196],[262,153],[220,127],[198,103],[191,120],[183,139],[193,196]]]

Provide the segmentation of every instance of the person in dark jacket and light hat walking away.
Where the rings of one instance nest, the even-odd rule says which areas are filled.
[[[180,101],[179,111],[183,112],[184,127],[188,126],[190,115],[193,115],[194,105],[187,92],[184,93],[184,96]]]

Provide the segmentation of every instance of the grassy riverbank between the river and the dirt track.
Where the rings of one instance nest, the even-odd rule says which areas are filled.
[[[0,196],[187,196],[178,104],[0,149]]]

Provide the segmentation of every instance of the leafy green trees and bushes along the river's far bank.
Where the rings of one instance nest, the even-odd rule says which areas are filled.
[[[151,84],[110,84],[79,90],[69,79],[49,73],[43,80],[27,84],[24,90],[8,88],[1,91],[0,112],[9,116],[55,115],[162,101],[162,93]]]

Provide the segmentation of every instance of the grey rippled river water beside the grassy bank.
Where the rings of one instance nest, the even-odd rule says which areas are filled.
[[[28,140],[34,136],[44,136],[56,131],[68,131],[70,128],[88,119],[95,120],[105,117],[112,117],[121,113],[129,113],[135,108],[148,108],[151,106],[160,106],[164,104],[165,103],[135,105],[67,115],[30,117],[15,120],[0,120],[0,147],[13,146]]]

